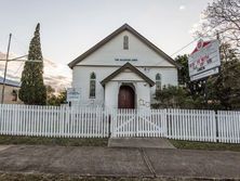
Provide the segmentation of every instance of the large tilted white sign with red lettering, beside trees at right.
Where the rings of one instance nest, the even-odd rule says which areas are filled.
[[[221,66],[218,40],[199,40],[188,57],[190,80],[199,80],[218,74]]]

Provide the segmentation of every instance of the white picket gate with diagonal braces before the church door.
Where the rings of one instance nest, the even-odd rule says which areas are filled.
[[[164,109],[114,109],[111,137],[164,137]]]

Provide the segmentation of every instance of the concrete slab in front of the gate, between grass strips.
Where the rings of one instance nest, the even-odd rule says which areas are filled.
[[[168,139],[163,138],[110,138],[108,147],[175,148]]]

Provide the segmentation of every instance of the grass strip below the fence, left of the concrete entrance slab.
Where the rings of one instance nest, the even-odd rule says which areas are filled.
[[[61,145],[61,146],[107,146],[108,139],[74,139],[0,135],[0,144]]]

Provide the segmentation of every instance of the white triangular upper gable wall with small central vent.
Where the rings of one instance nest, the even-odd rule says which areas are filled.
[[[123,36],[129,36],[129,50],[123,50]],[[78,65],[119,65],[122,66],[125,62],[115,61],[115,59],[137,59],[131,62],[134,66],[169,66],[174,67],[164,57],[160,56],[133,34],[123,31],[109,42],[101,47],[94,53]]]

